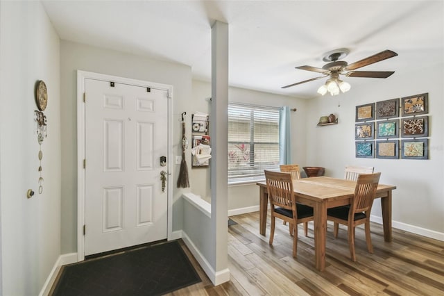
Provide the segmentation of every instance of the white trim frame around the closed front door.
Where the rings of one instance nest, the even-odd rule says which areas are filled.
[[[167,84],[153,83],[148,81],[140,81],[135,79],[127,79],[118,76],[99,74],[94,72],[77,71],[77,261],[85,260],[85,236],[83,236],[83,225],[85,225],[85,170],[83,169],[83,160],[85,159],[85,103],[83,102],[83,94],[85,93],[85,79],[97,79],[102,81],[114,81],[115,83],[123,83],[130,85],[138,85],[144,88],[157,88],[167,90],[168,92],[168,151],[167,151],[167,170],[169,179],[167,183],[167,240],[171,240],[173,232],[173,178],[172,172],[172,149],[173,129],[172,129],[172,113],[173,113],[173,86]]]

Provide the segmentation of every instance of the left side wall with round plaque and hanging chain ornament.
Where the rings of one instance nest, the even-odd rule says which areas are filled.
[[[1,1],[0,12],[0,294],[38,295],[60,255],[60,40],[39,1]],[[37,80],[48,89],[42,195]],[[28,189],[35,191],[31,199]]]

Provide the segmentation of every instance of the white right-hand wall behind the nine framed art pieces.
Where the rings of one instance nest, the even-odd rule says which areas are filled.
[[[366,87],[354,87],[356,79],[350,78],[350,92],[310,100],[307,117],[309,165],[325,167],[326,175],[339,178],[343,177],[345,165],[374,166],[375,172],[382,172],[381,183],[397,186],[393,191],[393,227],[441,240],[444,239],[443,55],[434,67],[396,72],[388,79],[375,79]],[[429,93],[429,160],[355,158],[356,106],[424,92]],[[318,118],[330,113],[339,116],[339,124],[316,127]],[[375,202],[372,215],[381,217],[379,201]]]

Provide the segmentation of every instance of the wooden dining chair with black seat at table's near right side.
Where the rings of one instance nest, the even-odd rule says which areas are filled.
[[[327,220],[334,222],[334,237],[338,237],[339,224],[347,225],[348,245],[350,257],[356,261],[355,255],[355,227],[365,224],[366,242],[368,252],[373,254],[372,240],[370,238],[370,211],[375,198],[380,172],[375,174],[359,174],[356,181],[355,196],[350,206],[337,206],[327,209]]]

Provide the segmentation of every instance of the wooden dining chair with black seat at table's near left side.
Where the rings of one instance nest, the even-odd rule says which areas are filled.
[[[298,224],[313,221],[313,208],[296,204],[291,174],[265,171],[268,199],[270,200],[271,230],[269,244],[273,245],[275,218],[289,222],[289,232],[293,236],[293,257],[298,249]]]

